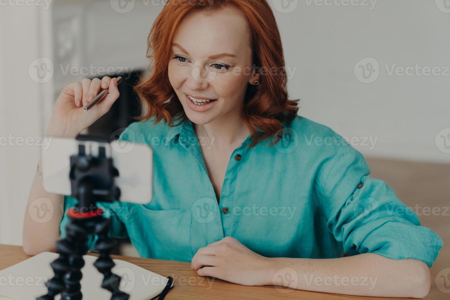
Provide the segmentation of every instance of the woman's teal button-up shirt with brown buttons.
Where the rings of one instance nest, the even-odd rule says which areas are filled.
[[[360,152],[305,117],[283,126],[275,146],[267,139],[249,148],[248,136],[234,150],[218,203],[199,145],[207,142],[197,139],[191,121],[130,124],[119,139],[153,149],[153,199],[99,202],[110,236],[130,237],[141,257],[164,260],[190,261],[200,247],[231,236],[266,257],[377,253],[432,266],[441,238],[383,180],[369,177]],[[62,237],[75,203],[64,197]]]

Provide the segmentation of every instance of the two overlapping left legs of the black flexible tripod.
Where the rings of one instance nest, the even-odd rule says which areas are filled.
[[[36,300],[54,300],[54,296],[61,293],[62,300],[81,300],[82,277],[81,268],[84,266],[83,255],[87,251],[87,232],[85,225],[75,218],[70,218],[66,226],[66,238],[56,242],[59,258],[50,266],[55,274],[45,285],[48,288],[47,295],[40,296]]]

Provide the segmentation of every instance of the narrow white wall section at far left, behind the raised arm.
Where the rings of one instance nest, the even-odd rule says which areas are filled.
[[[40,86],[28,66],[41,46],[36,7],[0,9],[0,243],[22,244],[22,222],[38,146],[12,146],[42,135]],[[27,20],[27,22],[23,22]],[[19,139],[18,139],[19,138]],[[23,143],[23,142],[22,142]]]

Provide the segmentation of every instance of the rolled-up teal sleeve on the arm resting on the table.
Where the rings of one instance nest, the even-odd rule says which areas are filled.
[[[383,180],[369,177],[363,155],[350,144],[327,162],[322,196],[327,228],[344,253],[376,253],[387,258],[422,260],[431,267],[442,239],[420,224]]]

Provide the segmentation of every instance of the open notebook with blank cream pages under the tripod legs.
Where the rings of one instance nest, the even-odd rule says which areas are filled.
[[[45,295],[45,282],[53,278],[50,263],[59,257],[58,253],[42,252],[18,264],[0,271],[0,300],[35,300]],[[100,287],[103,280],[95,267],[97,257],[83,255],[85,265],[81,269],[81,292],[83,299],[110,299],[111,292]],[[129,300],[150,300],[161,294],[168,279],[123,260],[116,264],[112,273],[121,276],[120,290],[130,295]],[[60,294],[55,297],[60,300]]]

